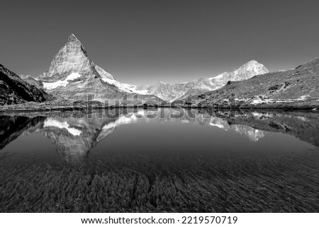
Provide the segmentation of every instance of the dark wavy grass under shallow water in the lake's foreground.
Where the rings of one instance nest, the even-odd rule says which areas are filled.
[[[318,212],[319,153],[0,154],[1,212]]]

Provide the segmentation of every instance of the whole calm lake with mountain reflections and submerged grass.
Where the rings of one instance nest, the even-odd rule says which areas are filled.
[[[1,113],[1,212],[319,212],[317,112]]]

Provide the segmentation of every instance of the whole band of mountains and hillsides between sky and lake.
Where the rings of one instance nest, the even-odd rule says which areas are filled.
[[[296,69],[269,73],[263,64],[252,60],[240,68],[215,77],[200,78],[184,83],[158,82],[153,85],[135,86],[121,83],[108,71],[96,65],[88,56],[82,43],[69,35],[67,43],[57,52],[50,68],[40,76],[16,74],[1,65],[0,105],[47,100],[129,100],[138,94],[140,100],[181,100],[184,103],[192,96],[202,106],[213,105],[229,98],[249,105],[303,102],[318,102],[319,60],[302,64]],[[54,98],[53,98],[54,97]],[[306,104],[308,105],[308,104]]]

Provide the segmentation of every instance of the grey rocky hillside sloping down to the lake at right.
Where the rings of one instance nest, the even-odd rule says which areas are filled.
[[[284,105],[318,106],[319,58],[296,69],[254,76],[246,81],[231,81],[223,88],[194,99],[201,105],[213,105],[235,94],[238,102],[250,106],[282,107]]]

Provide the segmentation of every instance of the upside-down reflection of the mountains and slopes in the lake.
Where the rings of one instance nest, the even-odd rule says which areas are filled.
[[[151,115],[157,113],[156,117]],[[180,115],[182,113],[182,115]],[[172,117],[174,114],[178,117]],[[52,141],[63,160],[72,164],[85,161],[89,151],[123,124],[152,122],[195,123],[215,127],[225,132],[235,132],[257,142],[268,132],[291,134],[296,138],[319,146],[318,114],[312,112],[245,112],[230,116],[230,112],[216,113],[209,110],[174,111],[160,109],[114,109],[108,114],[93,113],[90,117],[73,118],[72,112],[41,112],[3,115],[1,121],[1,149],[24,134],[42,134]],[[35,117],[36,115],[40,115]],[[151,116],[151,117],[150,117]],[[230,116],[230,117],[229,117]]]

